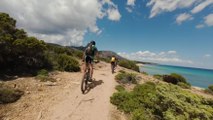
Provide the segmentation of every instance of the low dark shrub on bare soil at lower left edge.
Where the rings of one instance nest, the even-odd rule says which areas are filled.
[[[0,88],[0,104],[17,101],[24,94],[21,90],[12,88]]]

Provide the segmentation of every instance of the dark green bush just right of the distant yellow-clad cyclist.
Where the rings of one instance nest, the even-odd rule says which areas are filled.
[[[136,62],[130,60],[121,60],[119,61],[118,65],[125,67],[127,69],[132,69],[134,71],[139,72],[139,66],[136,65]]]

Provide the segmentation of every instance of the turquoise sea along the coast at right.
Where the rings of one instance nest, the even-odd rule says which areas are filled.
[[[192,86],[207,88],[213,84],[213,70],[189,68],[168,65],[144,65],[140,71],[145,71],[150,75],[177,73],[187,79]]]

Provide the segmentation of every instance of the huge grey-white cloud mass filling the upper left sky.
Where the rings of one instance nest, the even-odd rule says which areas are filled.
[[[9,13],[30,35],[62,45],[82,45],[87,31],[101,33],[98,19],[121,16],[111,0],[1,0],[0,11]]]

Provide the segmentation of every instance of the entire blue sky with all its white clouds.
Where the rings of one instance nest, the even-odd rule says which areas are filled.
[[[0,12],[46,42],[213,69],[213,0],[1,0]]]

